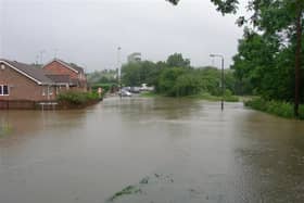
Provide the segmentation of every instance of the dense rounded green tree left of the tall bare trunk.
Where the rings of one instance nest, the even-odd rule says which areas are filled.
[[[241,92],[259,94],[264,99],[293,101],[294,60],[290,49],[280,49],[276,39],[255,33],[248,33],[240,40],[232,68],[240,87],[243,87]]]

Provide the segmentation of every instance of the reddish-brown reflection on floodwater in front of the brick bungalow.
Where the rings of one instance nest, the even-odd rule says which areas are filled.
[[[85,111],[1,111],[0,124],[9,131],[0,139],[0,145],[10,145],[51,131],[65,135],[75,127],[84,126]]]

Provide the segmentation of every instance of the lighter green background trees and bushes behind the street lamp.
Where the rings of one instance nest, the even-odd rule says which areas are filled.
[[[154,86],[157,93],[169,97],[221,94],[220,71],[215,67],[191,67],[190,60],[183,59],[180,53],[169,55],[166,62],[125,64],[122,76],[125,86],[148,84]],[[236,79],[231,69],[225,71],[225,86],[235,93]]]

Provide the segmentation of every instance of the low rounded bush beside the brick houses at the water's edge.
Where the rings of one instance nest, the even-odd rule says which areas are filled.
[[[99,99],[96,92],[77,92],[66,91],[58,96],[58,101],[62,103],[68,103],[73,105],[87,104],[88,102],[96,101]]]

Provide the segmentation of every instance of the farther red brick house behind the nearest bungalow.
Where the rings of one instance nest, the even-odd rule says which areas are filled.
[[[54,59],[47,63],[43,67],[49,77],[66,77],[69,78],[69,88],[78,91],[87,91],[87,78],[83,67],[66,63],[62,60]]]

